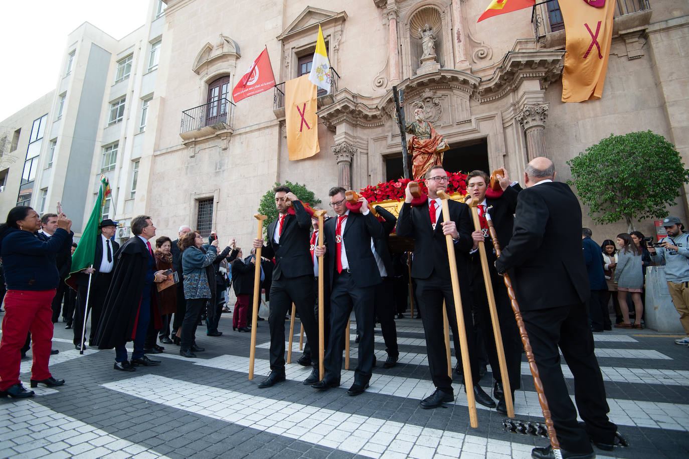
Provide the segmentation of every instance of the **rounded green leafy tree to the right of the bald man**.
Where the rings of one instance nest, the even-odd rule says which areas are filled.
[[[572,172],[567,183],[577,187],[593,221],[624,218],[630,231],[635,220],[668,216],[666,208],[675,205],[682,185],[689,183],[675,145],[650,130],[610,134],[567,164]]]

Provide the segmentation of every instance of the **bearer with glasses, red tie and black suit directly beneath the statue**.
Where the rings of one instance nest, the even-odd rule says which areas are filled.
[[[471,318],[471,297],[466,273],[467,254],[478,247],[482,236],[472,234],[469,206],[449,201],[450,220],[443,221],[438,192],[447,189],[447,172],[442,166],[433,166],[426,173],[428,199],[411,207],[413,198],[407,186],[406,198],[397,221],[397,235],[414,238],[414,254],[411,263],[411,277],[416,281],[416,298],[426,335],[426,352],[429,369],[436,390],[421,401],[422,408],[440,407],[454,400],[452,378],[447,375],[446,348],[443,339],[442,302],[445,300],[447,318],[452,329],[455,354],[460,355],[459,330],[455,315],[455,300],[450,278],[449,256],[445,236],[449,234],[455,242],[455,260],[460,281],[462,312],[466,328],[467,351],[471,363],[473,392],[476,402],[486,407],[495,407],[495,402],[478,385],[478,361],[476,336]],[[465,388],[466,390],[466,388]]]

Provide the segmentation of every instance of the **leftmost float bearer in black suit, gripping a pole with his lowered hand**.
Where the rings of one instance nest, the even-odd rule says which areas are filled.
[[[289,214],[291,201],[294,215]],[[318,352],[318,323],[313,315],[313,263],[309,256],[309,229],[311,218],[301,201],[289,187],[275,188],[275,205],[278,219],[268,225],[268,245],[263,239],[254,239],[254,248],[263,247],[263,256],[275,258],[270,287],[270,375],[258,387],[271,387],[285,380],[285,314],[296,306],[311,349]],[[318,363],[305,385],[317,383]]]

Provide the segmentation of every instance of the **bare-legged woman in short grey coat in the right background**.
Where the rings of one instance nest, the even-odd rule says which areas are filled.
[[[641,303],[641,291],[644,289],[644,275],[641,272],[641,250],[627,233],[617,235],[617,267],[615,268],[615,283],[617,283],[617,299],[619,309],[622,312],[622,323],[615,328],[641,327],[641,314],[644,314],[644,305]],[[629,307],[627,306],[627,294],[632,294],[634,309],[636,312],[635,325],[629,320]]]

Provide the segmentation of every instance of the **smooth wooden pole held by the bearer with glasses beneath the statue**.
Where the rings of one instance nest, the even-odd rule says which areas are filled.
[[[442,220],[450,221],[450,208],[447,200],[450,196],[440,190],[438,191],[440,204],[442,205]],[[464,325],[464,312],[462,309],[462,298],[460,298],[460,278],[457,274],[457,259],[455,258],[455,243],[450,234],[445,235],[447,243],[447,257],[450,264],[450,279],[452,281],[452,296],[455,300],[455,316],[457,316],[457,329],[460,333],[460,346],[462,347],[462,368],[464,369],[464,388],[466,389],[466,401],[469,404],[469,424],[471,427],[478,427],[476,416],[476,400],[473,395],[473,379],[471,376],[471,366],[469,365],[469,345],[466,341],[466,328]],[[471,387],[471,389],[469,389]]]

